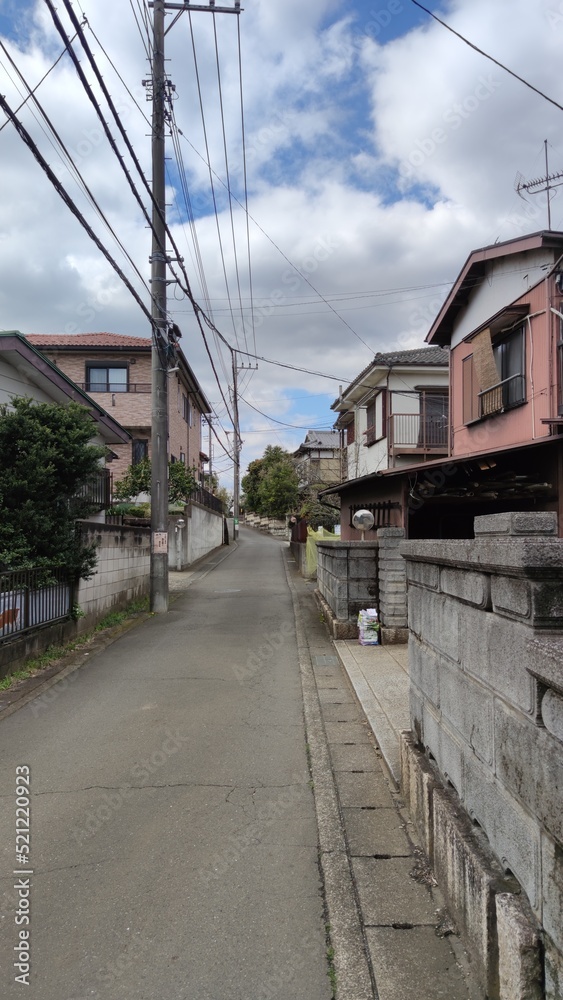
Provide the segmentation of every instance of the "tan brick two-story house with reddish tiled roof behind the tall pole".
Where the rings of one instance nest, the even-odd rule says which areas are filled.
[[[130,434],[118,445],[112,464],[115,479],[130,465],[151,455],[151,356],[149,337],[118,333],[30,334],[41,351]],[[177,349],[177,370],[168,378],[168,457],[194,467],[202,479],[207,456],[202,448],[202,420],[211,412],[190,365]]]

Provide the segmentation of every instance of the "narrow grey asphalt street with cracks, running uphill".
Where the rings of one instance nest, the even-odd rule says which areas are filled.
[[[282,554],[243,532],[168,615],[0,723],[2,997],[329,1000]],[[30,987],[13,964],[28,928]]]

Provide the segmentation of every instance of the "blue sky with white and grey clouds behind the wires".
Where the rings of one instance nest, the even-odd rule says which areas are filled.
[[[242,6],[239,17],[194,12],[191,24],[182,14],[166,44],[182,133],[181,161],[168,146],[168,219],[195,298],[231,345],[321,373],[263,361],[239,373],[246,465],[266,444],[293,450],[308,427],[330,427],[338,383],[376,351],[421,345],[472,249],[546,228],[545,195],[523,201],[515,180],[544,174],[544,140],[550,171],[563,171],[563,112],[411,0]],[[426,6],[563,104],[563,0]],[[147,5],[74,0],[73,9],[87,17],[86,38],[150,177]],[[149,232],[69,57],[59,60],[63,44],[48,4],[0,0],[0,41],[0,94],[15,110],[26,96],[18,72],[30,87],[40,84],[42,107],[140,277],[37,109],[28,101],[18,116],[148,305]],[[109,120],[106,107],[104,115]],[[2,111],[0,192],[0,329],[149,335],[138,304]],[[563,229],[563,189],[552,201],[552,227]],[[225,405],[190,303],[174,285],[169,309],[226,442]],[[220,356],[211,334],[209,344],[228,396],[229,352]],[[230,463],[218,445],[214,458],[228,484]]]

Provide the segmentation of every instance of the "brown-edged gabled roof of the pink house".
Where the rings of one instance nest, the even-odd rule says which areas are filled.
[[[492,260],[526,253],[531,250],[553,249],[563,253],[563,233],[542,230],[528,236],[519,236],[504,243],[473,250],[463,265],[452,290],[434,320],[426,337],[429,344],[449,344],[458,314],[467,304],[470,292],[480,283]]]

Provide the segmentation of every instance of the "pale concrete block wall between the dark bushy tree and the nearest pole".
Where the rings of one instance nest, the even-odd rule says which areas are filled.
[[[149,593],[150,528],[82,522],[87,544],[98,546],[93,576],[81,580],[77,601],[84,628],[114,608],[122,608]]]

